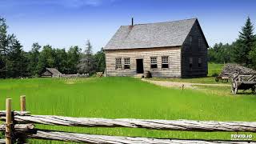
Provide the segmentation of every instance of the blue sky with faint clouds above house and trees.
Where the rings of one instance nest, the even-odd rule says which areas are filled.
[[[250,16],[256,22],[254,0],[0,0],[0,16],[9,32],[31,49],[33,42],[94,52],[105,46],[121,25],[198,18],[210,46],[233,42]]]

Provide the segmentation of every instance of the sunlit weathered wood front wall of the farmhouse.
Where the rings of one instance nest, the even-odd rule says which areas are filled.
[[[143,58],[144,74],[150,71],[153,77],[181,77],[181,47],[165,47],[132,50],[105,50],[106,76],[134,76],[136,58]],[[162,68],[162,56],[169,57],[169,68]],[[158,68],[150,69],[150,57],[157,57]],[[115,70],[115,58],[122,58],[122,70]],[[130,70],[124,70],[124,58],[130,58]]]

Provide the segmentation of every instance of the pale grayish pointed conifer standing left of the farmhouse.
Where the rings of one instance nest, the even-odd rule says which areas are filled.
[[[85,54],[82,55],[80,62],[78,64],[78,71],[86,74],[93,74],[95,72],[95,62],[94,55],[92,52],[92,46],[90,44],[90,40],[86,42],[86,50]]]

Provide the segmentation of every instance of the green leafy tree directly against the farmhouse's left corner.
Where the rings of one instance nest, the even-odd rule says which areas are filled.
[[[95,64],[96,64],[96,71],[104,71],[105,70],[105,54],[103,51],[103,47],[100,51],[98,51],[95,55],[94,55],[94,59],[95,59]]]

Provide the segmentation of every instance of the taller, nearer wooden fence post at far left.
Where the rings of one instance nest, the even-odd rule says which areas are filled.
[[[11,114],[11,98],[6,99],[6,144],[11,144],[11,125],[12,125],[12,114]]]

